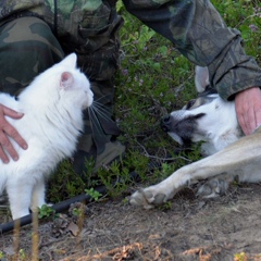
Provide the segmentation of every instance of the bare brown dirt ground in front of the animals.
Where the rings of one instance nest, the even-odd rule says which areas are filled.
[[[34,248],[45,261],[261,260],[261,185],[234,186],[208,201],[185,189],[169,209],[142,210],[105,199],[85,206],[80,219],[73,212],[82,207],[40,221],[36,247],[32,225],[22,227],[18,259],[34,260]],[[14,238],[11,232],[0,235],[1,260],[11,260]]]

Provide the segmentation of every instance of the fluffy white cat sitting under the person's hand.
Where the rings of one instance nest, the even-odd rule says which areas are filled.
[[[76,148],[84,125],[82,111],[94,100],[76,60],[72,53],[37,76],[17,100],[0,95],[0,103],[24,113],[21,120],[8,121],[28,144],[23,150],[13,142],[18,161],[0,161],[0,194],[7,189],[14,220],[45,203],[46,178]]]

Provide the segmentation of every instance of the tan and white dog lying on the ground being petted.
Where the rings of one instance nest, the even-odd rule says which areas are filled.
[[[132,204],[153,208],[172,199],[188,184],[202,179],[207,182],[198,195],[204,198],[224,194],[235,179],[261,182],[261,127],[244,136],[235,103],[208,91],[208,75],[206,67],[196,67],[199,97],[162,120],[163,129],[178,144],[204,141],[201,149],[206,158],[183,166],[157,185],[134,192],[129,199]]]

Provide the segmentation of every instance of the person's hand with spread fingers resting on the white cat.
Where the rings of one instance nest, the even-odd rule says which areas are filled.
[[[0,104],[0,159],[3,163],[9,163],[10,161],[8,153],[14,161],[18,160],[18,154],[11,144],[10,138],[14,139],[23,149],[27,149],[26,141],[5,119],[5,116],[10,116],[12,119],[18,120],[23,117],[23,113],[16,112]]]

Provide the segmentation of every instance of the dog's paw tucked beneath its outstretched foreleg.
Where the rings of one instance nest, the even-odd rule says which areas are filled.
[[[212,178],[199,187],[197,196],[201,198],[215,198],[224,195],[228,189],[228,182],[223,178]]]

